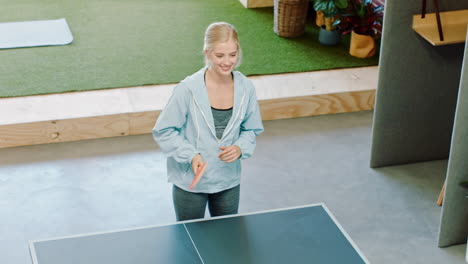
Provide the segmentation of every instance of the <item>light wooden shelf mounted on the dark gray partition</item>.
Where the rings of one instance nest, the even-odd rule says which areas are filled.
[[[468,9],[440,12],[444,41],[440,41],[435,13],[413,16],[413,30],[434,46],[463,43],[466,41]]]

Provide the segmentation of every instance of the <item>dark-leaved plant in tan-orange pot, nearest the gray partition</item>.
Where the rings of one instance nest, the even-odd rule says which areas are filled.
[[[375,40],[382,34],[383,6],[373,0],[348,0],[346,12],[338,21],[343,34],[351,33],[349,54],[358,58],[375,55]]]

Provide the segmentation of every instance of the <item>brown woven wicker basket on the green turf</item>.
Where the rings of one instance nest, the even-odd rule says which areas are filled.
[[[304,34],[309,0],[275,0],[274,3],[275,33],[286,38]]]

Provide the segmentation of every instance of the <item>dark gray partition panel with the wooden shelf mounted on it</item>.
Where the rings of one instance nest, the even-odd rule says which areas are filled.
[[[422,1],[387,0],[371,167],[447,158],[464,44],[434,47],[412,30]],[[468,1],[439,1],[441,10]],[[434,12],[428,1],[428,12]]]

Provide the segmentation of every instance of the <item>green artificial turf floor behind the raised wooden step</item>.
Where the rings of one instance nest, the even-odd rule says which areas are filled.
[[[349,39],[320,45],[310,21],[304,36],[273,32],[273,8],[238,0],[0,0],[0,22],[65,17],[66,46],[0,50],[0,97],[176,83],[203,67],[203,33],[234,24],[246,75],[377,65],[348,54]]]

